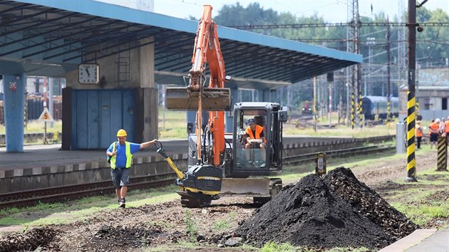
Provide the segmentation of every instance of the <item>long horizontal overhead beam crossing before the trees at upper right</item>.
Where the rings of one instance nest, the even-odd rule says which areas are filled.
[[[358,22],[359,27],[363,26],[407,26],[408,23],[386,23],[386,22],[371,22],[362,23]],[[418,23],[419,26],[449,26],[448,22],[427,22]],[[326,27],[341,27],[341,26],[354,26],[353,22],[349,23],[287,23],[287,24],[249,24],[247,26],[228,26],[231,28],[237,28],[239,30],[256,30],[256,29],[288,29],[288,28],[326,28]]]

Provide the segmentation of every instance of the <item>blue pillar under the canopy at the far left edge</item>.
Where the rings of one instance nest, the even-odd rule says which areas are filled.
[[[25,73],[3,75],[6,152],[24,152]]]

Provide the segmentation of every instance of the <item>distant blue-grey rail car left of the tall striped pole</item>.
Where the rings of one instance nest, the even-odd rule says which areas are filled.
[[[386,119],[387,117],[387,103],[385,96],[363,96],[362,98],[362,113],[366,120],[374,120],[376,116],[379,119]],[[391,114],[398,117],[399,114],[399,99],[397,97],[391,98]]]

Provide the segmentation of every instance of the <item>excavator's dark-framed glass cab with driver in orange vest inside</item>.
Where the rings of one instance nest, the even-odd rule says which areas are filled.
[[[232,140],[234,162],[227,167],[228,177],[280,174],[282,122],[286,120],[287,111],[282,110],[279,103],[236,103]]]

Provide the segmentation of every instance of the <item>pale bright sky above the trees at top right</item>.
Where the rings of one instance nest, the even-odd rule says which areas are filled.
[[[128,0],[133,1],[133,0]],[[202,14],[202,5],[210,4],[215,11],[212,15],[217,15],[218,11],[224,4],[236,4],[234,0],[153,0],[154,11],[156,13],[165,14],[167,16],[175,16],[181,19],[188,18],[190,15],[197,19]],[[405,10],[408,7],[407,0],[358,0],[359,13],[361,16],[368,16],[373,18],[373,14],[378,14],[381,11],[385,12],[393,18],[398,16],[399,1],[403,2]],[[256,2],[249,0],[239,0],[239,3],[246,7],[248,4]],[[290,12],[295,16],[311,16],[318,14],[324,17],[324,20],[331,23],[339,23],[347,21],[347,0],[258,0],[260,6],[264,9],[273,9],[274,11]],[[350,1],[352,2],[352,1]],[[373,11],[371,12],[371,5]],[[443,9],[449,14],[449,0],[428,0],[425,3],[425,8],[434,10],[436,8]]]

